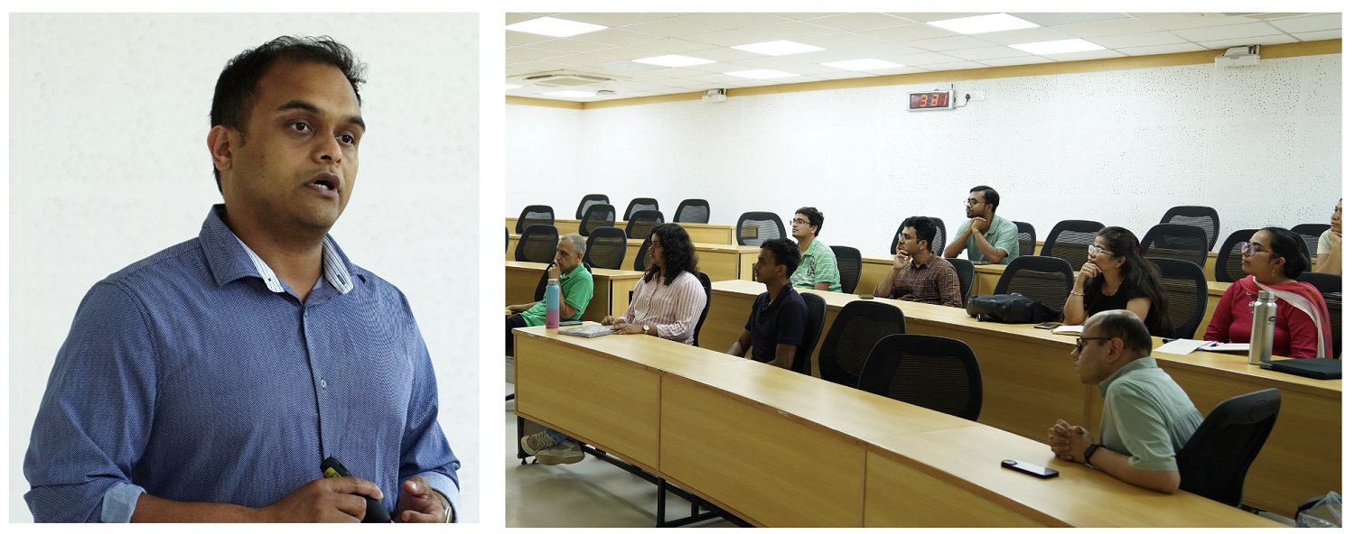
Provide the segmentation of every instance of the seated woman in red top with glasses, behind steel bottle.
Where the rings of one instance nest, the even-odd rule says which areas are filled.
[[[1317,288],[1295,281],[1308,269],[1308,245],[1298,234],[1266,227],[1241,245],[1247,277],[1218,299],[1205,339],[1248,343],[1252,339],[1252,303],[1262,289],[1275,292],[1275,337],[1271,353],[1290,358],[1332,357],[1331,319]]]

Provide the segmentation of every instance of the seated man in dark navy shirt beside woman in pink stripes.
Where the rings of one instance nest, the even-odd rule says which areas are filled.
[[[799,265],[799,247],[786,238],[767,239],[757,251],[757,281],[767,285],[767,292],[753,300],[752,314],[744,324],[743,334],[729,354],[743,357],[753,349],[753,360],[790,369],[795,362],[795,350],[804,342],[805,324],[809,322],[809,307],[805,299],[790,287],[790,273]]]

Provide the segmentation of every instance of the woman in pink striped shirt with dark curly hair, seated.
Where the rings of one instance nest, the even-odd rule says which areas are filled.
[[[696,280],[696,249],[683,227],[667,223],[649,234],[649,269],[635,284],[630,307],[602,319],[617,334],[646,334],[691,345],[706,291]]]

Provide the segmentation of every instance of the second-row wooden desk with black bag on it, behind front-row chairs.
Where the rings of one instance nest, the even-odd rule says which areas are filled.
[[[711,284],[710,315],[701,331],[702,347],[729,349],[748,320],[753,299],[763,291],[763,284],[743,280]],[[841,307],[859,297],[798,291],[818,295],[828,304],[812,360],[813,374],[818,376],[822,339]],[[1031,324],[980,323],[959,308],[875,300],[901,308],[909,334],[955,338],[974,350],[984,374],[984,410],[978,422],[1037,441],[1045,439],[1046,429],[1057,419],[1096,429],[1100,393],[1077,381],[1070,357],[1075,337],[1054,335]],[[1154,343],[1160,346],[1161,338],[1154,338]],[[1153,356],[1203,415],[1232,396],[1280,389],[1285,408],[1248,473],[1248,504],[1293,516],[1298,503],[1340,488],[1340,380],[1262,370],[1247,365],[1240,356]]]

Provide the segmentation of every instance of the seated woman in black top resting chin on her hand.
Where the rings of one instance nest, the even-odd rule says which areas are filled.
[[[1096,233],[1095,243],[1087,247],[1087,264],[1064,301],[1064,322],[1081,324],[1106,310],[1129,310],[1148,324],[1150,334],[1175,337],[1163,274],[1157,265],[1144,260],[1142,250],[1129,230],[1107,226]]]

